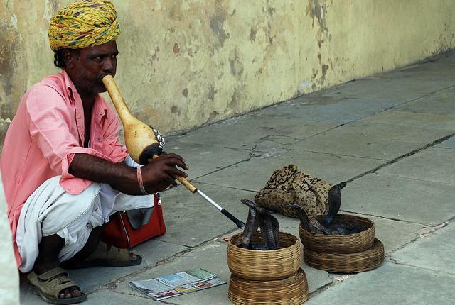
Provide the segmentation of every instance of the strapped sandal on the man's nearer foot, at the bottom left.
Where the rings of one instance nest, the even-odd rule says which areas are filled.
[[[80,296],[74,296],[71,298],[59,298],[59,294],[63,290],[70,287],[80,288],[73,279],[68,277],[68,272],[60,267],[55,267],[41,275],[37,275],[35,272],[30,272],[27,276],[28,282],[33,285],[36,292],[51,304],[75,304],[83,302],[87,299],[87,295],[81,292]],[[80,290],[80,289],[79,289]]]

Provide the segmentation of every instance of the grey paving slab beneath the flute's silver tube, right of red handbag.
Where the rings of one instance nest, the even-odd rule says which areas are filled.
[[[241,204],[240,199],[250,198],[254,194],[228,187],[195,185],[230,214],[245,221],[247,206]],[[181,185],[161,194],[166,234],[158,240],[194,247],[237,228],[208,201],[198,194],[191,194]]]

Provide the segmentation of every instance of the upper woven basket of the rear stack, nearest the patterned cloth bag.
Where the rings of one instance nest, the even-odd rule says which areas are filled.
[[[324,215],[316,216],[323,221]],[[371,248],[375,239],[375,223],[360,216],[338,214],[333,223],[354,223],[363,231],[348,235],[323,235],[306,231],[299,226],[299,235],[304,248],[319,253],[358,253]]]

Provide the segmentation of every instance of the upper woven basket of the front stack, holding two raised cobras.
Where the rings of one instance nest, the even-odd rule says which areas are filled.
[[[260,243],[261,233],[252,236],[252,243]],[[279,249],[248,250],[237,247],[242,233],[232,236],[228,243],[228,266],[237,277],[256,281],[273,281],[294,275],[301,264],[299,239],[289,233],[279,233]]]

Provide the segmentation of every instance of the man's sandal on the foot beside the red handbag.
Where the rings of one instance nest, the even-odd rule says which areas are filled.
[[[63,262],[63,267],[68,269],[82,269],[89,267],[127,267],[139,265],[142,257],[137,255],[136,260],[132,260],[131,253],[127,249],[120,249],[112,245],[100,242],[94,253],[85,260]]]

